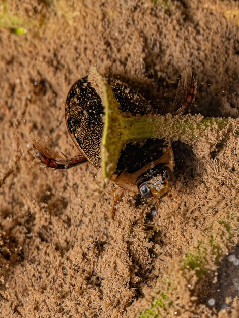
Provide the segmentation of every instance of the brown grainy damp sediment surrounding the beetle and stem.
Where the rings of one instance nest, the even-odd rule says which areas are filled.
[[[170,111],[178,75],[190,66],[198,82],[191,113],[237,118],[238,3],[3,4],[0,22],[18,17],[27,33],[0,27],[0,317],[143,316],[165,273],[177,283],[180,309],[165,308],[163,317],[237,317],[238,266],[228,257],[239,257],[238,236],[196,289],[185,284],[177,263],[203,237],[205,224],[238,211],[235,130],[222,140],[212,131],[211,151],[203,140],[196,153],[173,144],[177,198],[147,209],[152,232],[140,227],[146,202],[131,193],[111,219],[114,185],[101,193],[91,164],[53,171],[35,163],[30,133],[55,151],[78,154],[64,106],[71,85],[92,65],[137,88],[158,113]]]

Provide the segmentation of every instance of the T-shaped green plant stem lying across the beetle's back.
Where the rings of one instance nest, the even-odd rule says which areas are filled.
[[[96,67],[89,72],[89,81],[101,97],[104,106],[104,129],[102,135],[102,173],[110,179],[118,163],[125,143],[148,138],[181,141],[194,145],[213,131],[217,139],[223,129],[227,129],[231,118],[204,118],[201,115],[137,115],[122,113],[119,103],[106,79]]]

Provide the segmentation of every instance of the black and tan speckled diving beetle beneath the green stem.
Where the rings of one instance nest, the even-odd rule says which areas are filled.
[[[153,115],[150,103],[134,88],[117,79],[106,78],[122,112],[130,113],[132,116]],[[181,80],[181,87],[178,87],[174,101],[175,115],[185,113],[196,94],[196,81],[190,68],[182,73]],[[65,119],[68,132],[81,154],[64,158],[44,141],[32,135],[35,157],[39,162],[54,169],[68,169],[88,161],[99,170],[102,116],[103,105],[100,96],[88,77],[79,79],[69,90],[65,104]],[[173,167],[174,156],[170,142],[164,139],[147,139],[143,143],[131,142],[122,149],[111,180],[120,188],[140,194],[143,198],[151,198],[146,207],[153,200],[161,207],[159,200],[162,197],[170,193],[175,196],[170,188],[175,180]],[[118,200],[115,189],[112,218]]]

